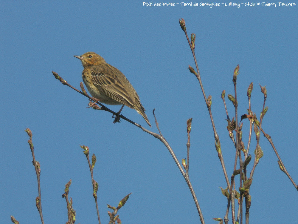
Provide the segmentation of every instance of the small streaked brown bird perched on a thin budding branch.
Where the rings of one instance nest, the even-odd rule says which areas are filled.
[[[109,105],[122,104],[120,111],[117,113],[118,116],[124,105],[135,109],[151,127],[139,95],[121,71],[106,63],[103,57],[94,52],[87,52],[74,57],[81,60],[84,67],[82,72],[83,81],[89,93],[97,101]]]

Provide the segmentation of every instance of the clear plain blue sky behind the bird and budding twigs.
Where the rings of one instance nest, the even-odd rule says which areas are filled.
[[[97,220],[89,168],[80,145],[89,146],[97,156],[94,179],[99,183],[102,223],[108,223],[106,204],[117,206],[131,192],[118,212],[122,223],[199,223],[187,184],[165,146],[125,120],[113,124],[110,113],[86,108],[86,97],[52,75],[55,71],[79,88],[83,67],[73,55],[87,51],[100,54],[125,74],[155,132],[152,110],[156,108],[162,134],[179,161],[186,157],[186,121],[193,118],[190,180],[205,222],[216,223],[212,218],[224,217],[226,198],[218,187],[225,188],[226,182],[207,107],[197,79],[187,70],[195,64],[179,18],[185,19],[189,35],[196,34],[195,52],[206,94],[212,95],[229,177],[235,149],[226,131],[220,96],[224,89],[233,94],[232,74],[239,64],[238,113],[246,113],[246,91],[253,82],[252,110],[259,116],[263,104],[259,83],[266,85],[269,110],[262,127],[298,183],[297,6],[145,7],[142,2],[1,2],[0,223],[10,223],[10,215],[21,223],[40,223],[25,128],[33,132],[35,156],[41,164],[46,223],[67,221],[61,196],[69,179],[76,223]],[[233,106],[228,100],[227,104],[232,117]],[[119,110],[119,106],[109,108]],[[122,114],[149,128],[136,111],[125,107]],[[247,145],[249,122],[243,123]],[[297,190],[280,171],[263,135],[260,145],[264,156],[250,188],[250,222],[294,223]],[[252,154],[254,146],[255,138]]]

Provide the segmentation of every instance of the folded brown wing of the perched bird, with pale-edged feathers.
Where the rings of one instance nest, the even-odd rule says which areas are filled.
[[[130,108],[134,108],[135,100],[139,99],[139,96],[125,76],[117,70],[116,72],[121,73],[120,75],[122,76],[120,80],[118,78],[119,73],[118,75],[115,74],[115,70],[101,70],[104,72],[98,72],[96,70],[91,71],[92,82],[94,85],[101,91],[101,93],[111,99]]]

